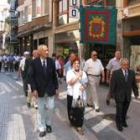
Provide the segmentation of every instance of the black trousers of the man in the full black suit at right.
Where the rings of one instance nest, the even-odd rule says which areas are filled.
[[[116,102],[116,124],[121,125],[122,122],[126,122],[129,104],[130,101],[127,101],[127,99],[124,102]]]

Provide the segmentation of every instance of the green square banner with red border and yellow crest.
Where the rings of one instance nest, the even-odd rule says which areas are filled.
[[[116,8],[80,6],[81,43],[116,45]]]

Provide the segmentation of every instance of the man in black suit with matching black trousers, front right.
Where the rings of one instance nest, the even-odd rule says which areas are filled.
[[[119,131],[127,127],[126,114],[131,101],[131,93],[138,97],[138,87],[135,80],[135,73],[129,70],[129,61],[126,58],[121,60],[121,68],[114,71],[110,91],[116,101],[116,126]],[[123,127],[122,127],[123,126]]]

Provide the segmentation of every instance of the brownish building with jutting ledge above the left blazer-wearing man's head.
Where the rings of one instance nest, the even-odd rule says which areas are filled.
[[[20,53],[32,52],[40,44],[53,48],[52,0],[18,0]]]

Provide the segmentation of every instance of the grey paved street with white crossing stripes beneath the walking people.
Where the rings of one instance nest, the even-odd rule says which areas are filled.
[[[56,102],[53,133],[39,138],[36,129],[36,110],[28,109],[17,73],[0,73],[0,140],[139,140],[140,100],[131,102],[128,112],[128,128],[118,132],[114,123],[115,103],[105,104],[108,88],[100,86],[100,112],[86,108],[84,129],[80,136],[70,127],[66,112],[66,83],[60,85],[60,97]]]

